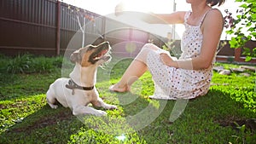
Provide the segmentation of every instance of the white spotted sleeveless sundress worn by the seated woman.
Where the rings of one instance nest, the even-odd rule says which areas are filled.
[[[185,32],[183,32],[181,41],[182,55],[179,60],[194,58],[201,53],[203,39],[201,23],[207,13],[202,17],[199,26],[188,25],[187,20],[190,14],[191,12],[189,11],[184,16]],[[146,44],[143,49],[147,50],[147,47],[156,46],[154,44]],[[150,96],[150,98],[165,100],[193,99],[207,94],[212,79],[212,66],[215,58],[212,60],[212,66],[207,69],[185,70],[164,65],[160,60],[160,53],[168,52],[158,49],[148,50],[147,53],[143,53],[143,57],[145,57],[143,61],[147,64],[154,80],[154,95]]]

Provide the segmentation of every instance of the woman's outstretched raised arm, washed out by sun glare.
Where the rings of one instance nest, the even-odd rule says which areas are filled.
[[[152,24],[183,24],[185,13],[179,11],[172,14],[151,14],[154,18],[148,17],[143,20]]]

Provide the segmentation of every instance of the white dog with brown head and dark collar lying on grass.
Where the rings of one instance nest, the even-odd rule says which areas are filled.
[[[46,93],[46,100],[51,108],[57,108],[56,101],[63,107],[70,107],[73,115],[91,114],[104,116],[107,112],[89,107],[91,103],[95,107],[105,109],[117,109],[102,101],[95,87],[96,71],[98,66],[111,60],[109,55],[111,47],[108,42],[98,45],[89,44],[78,49],[70,55],[70,60],[75,63],[73,72],[69,78],[58,78],[50,84]]]

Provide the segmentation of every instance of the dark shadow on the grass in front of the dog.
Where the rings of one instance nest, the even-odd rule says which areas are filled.
[[[3,132],[0,143],[67,143],[82,125],[69,108],[46,105]]]

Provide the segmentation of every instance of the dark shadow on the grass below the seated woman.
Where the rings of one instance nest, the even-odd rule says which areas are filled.
[[[231,125],[237,120],[256,118],[256,115],[232,100],[228,93],[211,89],[207,95],[190,100],[180,117],[171,123],[169,117],[174,104],[175,101],[167,101],[160,116],[137,134],[148,143],[242,142],[236,137],[253,143],[256,138],[255,130],[249,125],[246,133]]]

